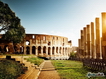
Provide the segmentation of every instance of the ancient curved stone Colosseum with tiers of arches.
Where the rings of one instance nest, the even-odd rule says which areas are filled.
[[[0,51],[34,54],[48,59],[68,59],[71,47],[72,43],[67,37],[45,34],[26,34],[24,42],[15,45],[14,49],[12,43],[0,42]]]

